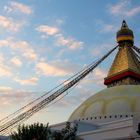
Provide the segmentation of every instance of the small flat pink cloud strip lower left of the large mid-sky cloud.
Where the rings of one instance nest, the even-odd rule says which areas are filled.
[[[38,82],[38,78],[37,77],[32,77],[29,79],[14,78],[14,81],[19,83],[20,85],[36,85]]]

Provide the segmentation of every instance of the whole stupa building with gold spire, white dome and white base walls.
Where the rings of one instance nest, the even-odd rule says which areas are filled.
[[[70,116],[84,140],[140,139],[140,61],[125,21],[117,32],[118,52],[104,80],[106,89],[84,101]],[[53,125],[62,129],[65,122]]]

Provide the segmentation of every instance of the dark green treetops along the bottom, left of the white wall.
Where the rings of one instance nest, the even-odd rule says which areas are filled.
[[[51,130],[47,125],[35,123],[19,126],[17,132],[11,134],[11,140],[76,140],[77,125],[70,122],[60,131]]]

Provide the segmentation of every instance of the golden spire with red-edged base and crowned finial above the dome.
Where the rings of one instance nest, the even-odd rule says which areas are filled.
[[[119,51],[104,82],[108,87],[140,84],[140,62],[132,49],[133,37],[132,30],[123,21],[117,32]]]

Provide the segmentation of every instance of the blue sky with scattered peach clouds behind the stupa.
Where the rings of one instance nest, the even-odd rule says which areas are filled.
[[[115,47],[123,19],[139,46],[139,0],[1,0],[0,119]],[[106,88],[115,54],[26,123],[67,121],[84,100]]]

